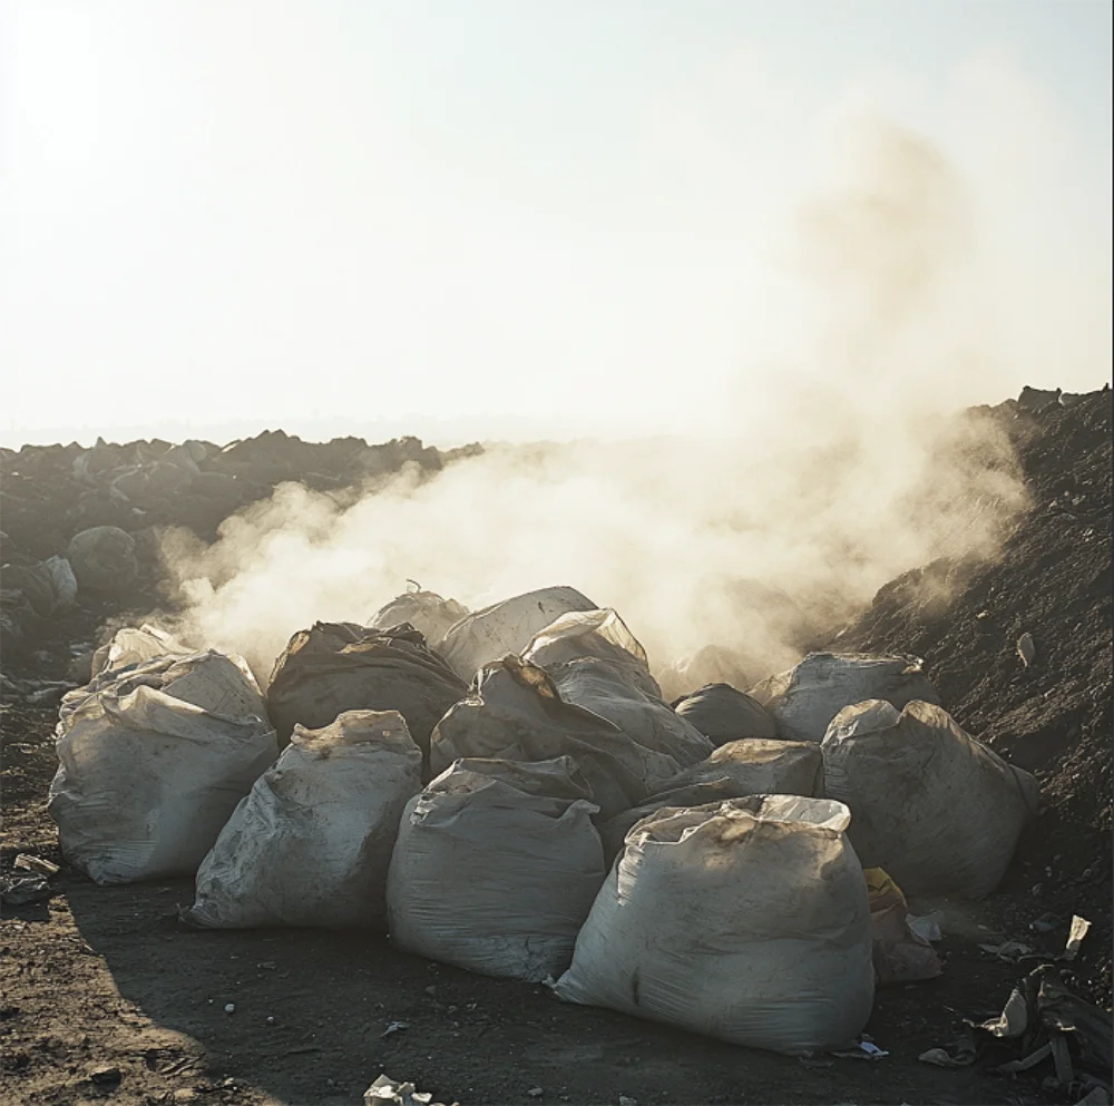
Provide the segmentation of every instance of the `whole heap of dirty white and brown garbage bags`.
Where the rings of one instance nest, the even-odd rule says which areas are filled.
[[[1039,802],[916,658],[810,654],[671,706],[573,588],[475,614],[417,591],[370,621],[300,630],[265,691],[237,657],[117,634],[61,705],[67,860],[194,874],[192,926],[385,930],[804,1053],[852,1041],[876,983],[939,973],[905,894],[989,893]]]

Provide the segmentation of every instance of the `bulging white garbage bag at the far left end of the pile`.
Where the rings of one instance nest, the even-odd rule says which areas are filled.
[[[197,870],[278,752],[241,664],[164,657],[66,697],[47,810],[70,863],[98,883]]]

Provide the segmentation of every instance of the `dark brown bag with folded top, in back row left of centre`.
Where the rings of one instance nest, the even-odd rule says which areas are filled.
[[[275,662],[267,708],[285,744],[300,724],[328,726],[345,711],[398,711],[423,751],[446,711],[467,685],[403,623],[385,630],[352,623],[314,623]]]

